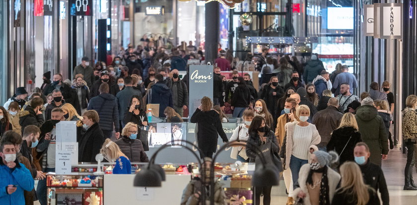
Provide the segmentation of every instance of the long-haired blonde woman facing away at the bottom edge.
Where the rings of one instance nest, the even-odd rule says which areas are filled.
[[[363,182],[362,172],[355,162],[340,167],[341,187],[336,190],[332,205],[380,205],[374,189]]]

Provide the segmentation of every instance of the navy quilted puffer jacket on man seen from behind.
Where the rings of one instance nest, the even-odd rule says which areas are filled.
[[[102,93],[94,97],[88,103],[87,110],[94,109],[98,112],[100,120],[98,124],[102,130],[114,130],[119,132],[119,110],[117,108],[116,98],[108,93]]]

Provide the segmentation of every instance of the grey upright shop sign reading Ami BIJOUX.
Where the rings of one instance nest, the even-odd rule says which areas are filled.
[[[200,100],[207,96],[213,100],[213,66],[190,65],[190,116],[199,107]]]

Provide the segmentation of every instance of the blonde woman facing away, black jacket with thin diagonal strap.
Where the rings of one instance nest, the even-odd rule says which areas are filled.
[[[347,112],[343,115],[339,127],[332,132],[327,151],[337,152],[340,155],[340,164],[354,161],[353,150],[358,142],[362,142],[362,137],[358,131],[355,115]]]

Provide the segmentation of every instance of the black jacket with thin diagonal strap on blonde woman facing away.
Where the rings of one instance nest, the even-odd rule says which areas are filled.
[[[340,165],[342,165],[345,161],[355,160],[353,150],[358,142],[362,142],[362,137],[356,129],[353,127],[342,127],[333,131],[327,144],[327,152],[333,150],[340,154]],[[348,145],[346,145],[347,143]],[[345,151],[342,153],[343,148],[345,148]]]

